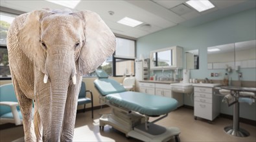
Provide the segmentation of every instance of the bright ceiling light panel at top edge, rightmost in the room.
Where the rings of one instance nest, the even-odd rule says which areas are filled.
[[[186,1],[187,5],[192,6],[192,8],[198,10],[198,12],[203,12],[214,8],[215,6],[208,0],[189,0]]]

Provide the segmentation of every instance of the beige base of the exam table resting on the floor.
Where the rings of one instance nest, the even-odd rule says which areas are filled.
[[[133,112],[124,114],[113,109],[111,114],[103,114],[100,117],[100,128],[102,130],[104,129],[104,125],[110,125],[124,133],[126,137],[134,137],[141,141],[169,141],[172,138],[175,138],[176,142],[180,141],[179,128],[165,128],[150,124],[148,130],[145,130],[145,117]]]

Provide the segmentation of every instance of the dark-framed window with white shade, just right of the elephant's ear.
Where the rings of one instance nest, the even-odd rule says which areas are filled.
[[[117,37],[117,47],[113,57],[113,75],[134,75],[135,41]]]

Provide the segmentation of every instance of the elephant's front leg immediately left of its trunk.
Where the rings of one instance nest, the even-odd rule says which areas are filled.
[[[38,110],[38,120],[40,123],[38,125],[38,130],[40,126],[43,126],[43,140],[51,140],[51,85],[50,83],[43,83],[43,74],[34,70],[34,90],[36,94],[36,108]],[[39,137],[39,136],[38,136]]]

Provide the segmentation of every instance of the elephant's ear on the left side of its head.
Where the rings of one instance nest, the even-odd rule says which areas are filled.
[[[45,53],[40,45],[40,26],[43,17],[53,14],[49,10],[35,10],[30,12],[19,32],[17,40],[21,50],[29,57],[34,66],[45,74]]]

